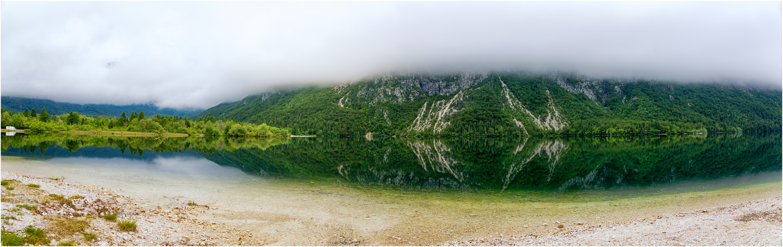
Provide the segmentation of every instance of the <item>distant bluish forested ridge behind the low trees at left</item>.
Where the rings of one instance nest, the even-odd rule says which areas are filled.
[[[204,111],[203,109],[176,110],[172,108],[159,108],[154,104],[132,104],[124,106],[117,106],[113,104],[71,104],[55,102],[53,100],[40,100],[13,96],[2,96],[0,97],[0,100],[2,100],[0,101],[2,107],[9,111],[22,112],[24,109],[29,109],[32,111],[33,108],[35,108],[35,110],[40,113],[41,109],[46,108],[46,112],[56,115],[67,114],[70,113],[70,111],[74,111],[78,114],[84,114],[88,116],[102,115],[109,117],[119,117],[123,112],[130,116],[133,111],[144,111],[144,114],[148,117],[154,116],[156,114],[161,114],[164,116],[192,117],[201,113],[201,111]]]

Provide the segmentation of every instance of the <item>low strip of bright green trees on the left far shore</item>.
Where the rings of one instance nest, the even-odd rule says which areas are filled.
[[[0,108],[2,118],[0,125],[13,126],[16,129],[33,132],[134,132],[155,134],[186,134],[204,136],[290,136],[287,129],[280,129],[265,124],[217,120],[215,117],[194,120],[179,116],[146,117],[144,111],[138,114],[134,111],[130,117],[123,112],[120,117],[97,116],[88,117],[71,111],[68,114],[52,115],[42,108],[32,111],[25,109],[21,113],[12,113]]]

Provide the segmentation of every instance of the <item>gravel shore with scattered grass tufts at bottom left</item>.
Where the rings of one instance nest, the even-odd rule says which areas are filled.
[[[49,245],[244,245],[253,240],[247,231],[195,219],[223,211],[208,205],[145,210],[138,206],[142,198],[106,188],[6,171],[2,180],[13,187],[2,187],[2,230],[24,236],[25,227],[38,227],[47,232]],[[106,220],[102,213],[117,213],[117,219]],[[135,221],[135,231],[120,231],[120,220]],[[97,239],[86,240],[84,233]]]

